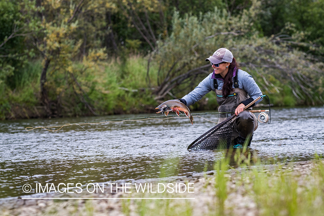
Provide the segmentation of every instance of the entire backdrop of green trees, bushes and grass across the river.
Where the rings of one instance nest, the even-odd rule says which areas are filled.
[[[145,112],[191,91],[219,47],[276,106],[322,104],[323,4],[0,0],[1,118],[15,113],[15,103],[44,106],[44,92],[54,116]],[[137,53],[148,56],[129,58]],[[191,109],[216,108],[208,94]]]

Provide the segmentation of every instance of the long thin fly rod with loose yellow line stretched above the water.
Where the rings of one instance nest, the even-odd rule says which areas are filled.
[[[253,112],[253,113],[264,113],[264,112],[269,112],[269,110],[250,110],[250,112]],[[200,117],[202,119],[205,119],[199,115],[207,115],[207,114],[228,114],[228,113],[235,113],[235,112],[209,112],[209,113],[194,113],[194,114],[191,114],[193,117]],[[137,117],[137,118],[125,118],[125,119],[112,119],[112,120],[100,120],[100,121],[86,121],[86,122],[79,122],[79,123],[67,123],[67,124],[61,124],[61,125],[52,125],[52,126],[44,126],[44,127],[36,127],[36,128],[33,128],[33,127],[26,127],[25,130],[26,131],[32,131],[34,129],[38,129],[38,128],[43,128],[47,131],[58,131],[60,130],[61,128],[65,127],[65,126],[71,126],[71,125],[78,125],[80,127],[82,127],[81,125],[84,125],[84,124],[101,124],[101,123],[118,123],[118,122],[124,122],[124,121],[142,121],[142,120],[147,120],[147,119],[154,119],[154,120],[165,120],[165,119],[171,119],[171,118],[187,118],[187,117],[180,117],[180,116],[185,116],[185,114],[180,114],[179,116],[178,115],[171,115],[171,116],[168,116],[168,117],[163,117],[163,116],[148,116],[148,117]],[[218,122],[214,122],[214,121],[211,121],[211,120],[208,120],[208,119],[205,119],[207,121],[210,121],[210,122],[213,122],[213,123],[218,123]],[[48,128],[56,128],[56,127],[59,127],[59,129],[56,129],[56,130],[49,130]],[[83,127],[82,127],[83,128]]]

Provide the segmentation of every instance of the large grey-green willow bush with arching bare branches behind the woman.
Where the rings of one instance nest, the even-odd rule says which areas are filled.
[[[155,98],[189,93],[212,72],[205,59],[226,47],[276,105],[322,104],[323,63],[300,51],[296,45],[304,48],[305,43],[299,43],[297,36],[285,42],[278,36],[263,37],[254,22],[259,13],[258,1],[238,16],[217,8],[199,17],[187,14],[180,18],[175,12],[172,34],[153,55],[159,63]]]

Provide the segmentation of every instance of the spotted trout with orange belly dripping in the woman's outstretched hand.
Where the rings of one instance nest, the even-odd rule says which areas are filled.
[[[191,122],[191,124],[193,124],[193,117],[190,113],[189,108],[186,105],[184,105],[184,103],[181,103],[179,100],[168,100],[168,101],[160,104],[155,109],[159,110],[156,113],[164,112],[165,116],[168,116],[168,113],[171,111],[176,112],[178,116],[179,116],[179,113],[181,114],[181,112],[184,112],[184,114],[186,114],[187,117],[189,116],[190,122]]]

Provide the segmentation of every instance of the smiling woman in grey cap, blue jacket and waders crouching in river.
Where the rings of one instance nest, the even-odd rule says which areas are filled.
[[[258,128],[258,121],[254,114],[243,111],[243,108],[262,96],[259,86],[250,74],[238,68],[232,52],[226,48],[216,50],[205,61],[210,61],[214,71],[188,95],[179,100],[186,106],[190,106],[202,99],[208,92],[215,91],[219,105],[218,111],[237,114],[232,127],[232,144],[234,147],[241,147],[247,142],[249,146],[253,132]],[[262,98],[257,100],[251,107],[261,100]],[[218,123],[229,116],[231,114],[220,114]]]

